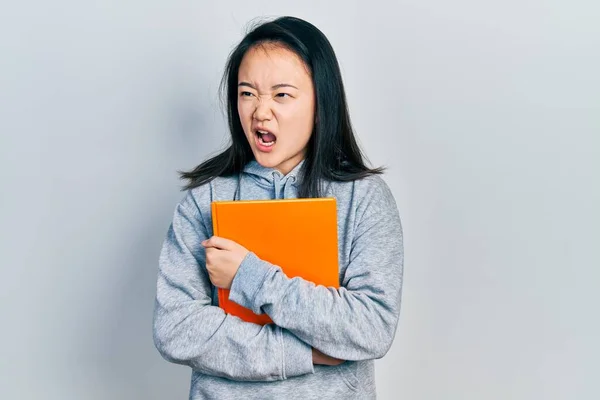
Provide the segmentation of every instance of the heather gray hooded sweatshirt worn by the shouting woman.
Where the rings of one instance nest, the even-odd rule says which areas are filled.
[[[205,267],[214,200],[296,198],[300,163],[287,175],[249,163],[177,205],[159,260],[154,342],[192,368],[190,399],[371,399],[373,360],[390,348],[400,312],[403,245],[398,209],[379,176],[326,182],[337,199],[340,288],[290,279],[249,253],[230,299],[266,313],[260,326],[226,315]],[[268,238],[267,238],[268,239]],[[314,347],[339,366],[313,365]]]

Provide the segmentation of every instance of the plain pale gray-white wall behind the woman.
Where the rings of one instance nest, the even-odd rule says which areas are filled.
[[[152,342],[176,171],[260,16],[317,25],[398,202],[381,399],[598,399],[595,1],[20,1],[0,12],[0,398],[184,399]]]

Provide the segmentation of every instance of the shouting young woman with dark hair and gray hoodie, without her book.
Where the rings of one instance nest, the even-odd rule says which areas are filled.
[[[182,174],[187,195],[160,256],[156,347],[192,368],[191,399],[374,398],[373,360],[400,311],[402,228],[382,170],[354,138],[334,51],[306,21],[264,23],[231,53],[223,89],[231,145]],[[339,289],[289,279],[212,236],[211,201],[296,197],[337,199]],[[217,287],[273,324],[226,315]]]

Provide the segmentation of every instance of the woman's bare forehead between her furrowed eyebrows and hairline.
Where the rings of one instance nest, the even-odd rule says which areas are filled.
[[[258,85],[310,81],[306,65],[300,57],[276,44],[263,44],[248,50],[240,64],[238,78]]]

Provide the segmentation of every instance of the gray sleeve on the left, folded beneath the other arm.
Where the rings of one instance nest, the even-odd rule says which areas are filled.
[[[168,361],[238,381],[313,373],[311,347],[274,324],[260,326],[211,305],[202,216],[188,194],[176,208],[159,259],[154,343]]]

